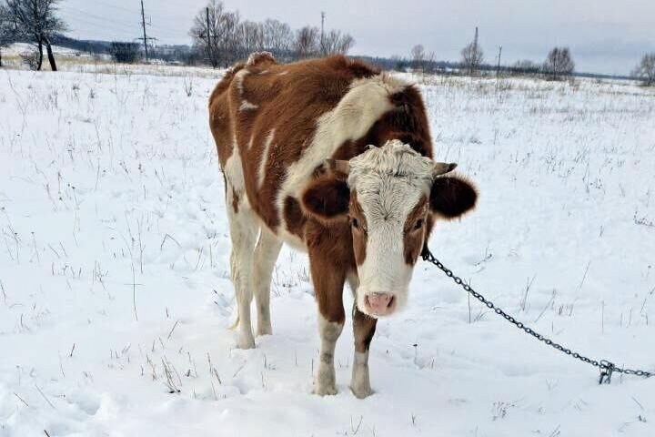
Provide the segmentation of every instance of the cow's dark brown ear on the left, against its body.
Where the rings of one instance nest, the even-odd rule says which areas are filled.
[[[346,181],[325,175],[309,183],[301,201],[308,215],[329,222],[348,214],[350,188]]]

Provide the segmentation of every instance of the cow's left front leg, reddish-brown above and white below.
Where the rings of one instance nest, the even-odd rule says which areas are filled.
[[[320,335],[320,354],[314,392],[321,396],[337,394],[334,352],[346,320],[342,300],[346,274],[333,260],[316,259],[310,256],[310,262],[318,304],[318,334]]]

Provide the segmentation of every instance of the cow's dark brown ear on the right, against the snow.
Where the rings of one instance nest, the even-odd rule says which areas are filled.
[[[430,210],[444,219],[456,219],[475,208],[478,191],[467,179],[440,176],[432,182]]]

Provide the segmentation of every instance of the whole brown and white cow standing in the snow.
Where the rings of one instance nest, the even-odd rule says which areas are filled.
[[[344,56],[277,64],[259,53],[234,66],[209,100],[227,194],[239,348],[271,333],[271,274],[283,242],[307,250],[318,305],[315,392],[334,394],[334,351],[355,295],[351,390],[370,394],[368,347],[378,318],[403,307],[435,219],[473,208],[455,168],[432,160],[416,86]]]

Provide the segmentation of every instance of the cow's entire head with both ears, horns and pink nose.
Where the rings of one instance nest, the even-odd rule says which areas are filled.
[[[407,301],[409,279],[435,217],[454,219],[473,208],[475,188],[443,176],[455,164],[434,162],[397,140],[350,161],[328,161],[328,167],[332,171],[303,194],[303,206],[328,226],[349,221],[358,309],[388,316]]]

